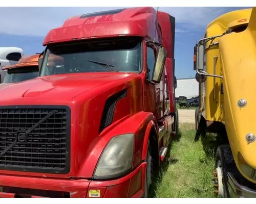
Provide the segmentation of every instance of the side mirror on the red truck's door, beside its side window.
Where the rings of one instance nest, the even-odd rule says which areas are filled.
[[[163,69],[165,65],[165,60],[167,57],[167,53],[164,47],[158,47],[157,57],[156,57],[156,63],[152,74],[151,81],[154,83],[160,83]]]

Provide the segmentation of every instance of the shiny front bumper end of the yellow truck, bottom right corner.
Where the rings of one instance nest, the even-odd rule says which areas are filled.
[[[234,198],[256,198],[256,191],[240,185],[234,176],[227,172],[227,182],[230,197]]]

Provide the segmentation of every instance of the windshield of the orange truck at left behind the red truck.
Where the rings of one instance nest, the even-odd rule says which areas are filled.
[[[38,67],[11,68],[6,72],[3,83],[18,83],[38,77]]]

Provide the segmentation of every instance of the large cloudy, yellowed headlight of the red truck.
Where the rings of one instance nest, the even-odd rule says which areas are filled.
[[[104,148],[94,179],[109,179],[124,174],[132,168],[134,151],[134,134],[113,137]]]

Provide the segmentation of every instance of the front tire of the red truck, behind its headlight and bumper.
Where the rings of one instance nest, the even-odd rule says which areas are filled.
[[[151,143],[148,141],[147,144],[147,157],[146,157],[146,173],[145,173],[145,189],[144,189],[144,198],[148,198],[150,196],[150,189],[152,184],[153,177],[153,158],[152,158],[152,148]],[[150,173],[150,176],[148,174]]]

